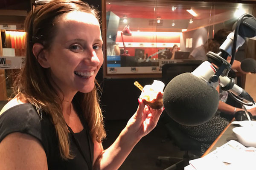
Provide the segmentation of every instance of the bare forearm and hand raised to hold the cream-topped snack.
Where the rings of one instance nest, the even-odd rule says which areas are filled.
[[[116,141],[102,151],[93,164],[93,170],[117,170],[131,150],[157,125],[163,109],[158,111],[148,108],[139,99],[139,107]],[[96,149],[94,149],[96,150]]]

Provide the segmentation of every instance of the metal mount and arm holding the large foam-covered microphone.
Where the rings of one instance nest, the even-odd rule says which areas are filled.
[[[223,44],[221,44],[219,48],[220,52],[218,54],[215,54],[211,51],[209,51],[206,54],[208,61],[218,67],[218,69],[216,69],[217,71],[215,72],[215,74],[212,75],[209,79],[209,81],[212,83],[218,82],[218,80],[222,78],[222,76],[225,77],[228,75],[231,69],[231,65],[233,64],[235,59],[236,50],[244,44],[244,39],[253,39],[256,37],[256,18],[253,17],[253,15],[241,15],[241,17],[239,17],[239,20],[236,22],[235,26],[235,30],[232,33],[230,33],[227,36],[227,39],[223,42]],[[232,57],[230,63],[227,62],[228,56]],[[234,79],[228,80],[229,82],[221,88],[224,91],[229,91],[230,89],[232,90],[233,86],[235,85]],[[251,96],[244,90],[238,96],[232,94],[231,92],[229,94],[233,99],[235,99],[237,102],[240,102],[241,104],[253,105],[254,103],[253,98],[251,98]],[[244,102],[244,99],[248,102]]]

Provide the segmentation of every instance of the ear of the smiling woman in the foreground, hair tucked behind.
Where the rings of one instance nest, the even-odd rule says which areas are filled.
[[[49,68],[49,62],[47,60],[47,52],[44,50],[44,45],[40,44],[40,43],[35,43],[33,45],[33,54],[35,56],[35,58],[38,60],[39,64],[43,67],[43,68]]]

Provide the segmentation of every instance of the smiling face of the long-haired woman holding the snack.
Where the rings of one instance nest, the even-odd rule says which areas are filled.
[[[98,20],[93,14],[72,11],[56,23],[56,36],[46,52],[52,79],[64,94],[92,91],[103,63]]]

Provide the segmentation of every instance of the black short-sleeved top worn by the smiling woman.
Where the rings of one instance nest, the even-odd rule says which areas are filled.
[[[58,136],[49,115],[42,112],[41,119],[30,103],[16,105],[0,115],[0,142],[10,133],[26,133],[38,139],[44,147],[48,170],[92,170],[93,141],[88,133],[87,122],[81,116],[80,120],[84,129],[79,133],[69,133],[70,150],[74,159],[61,158]]]

